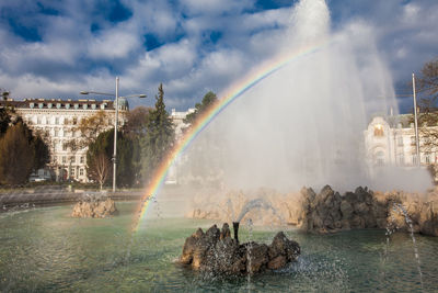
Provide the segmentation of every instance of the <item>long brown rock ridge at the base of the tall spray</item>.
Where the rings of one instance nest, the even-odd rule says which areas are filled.
[[[262,196],[276,213],[266,210],[251,211],[247,217],[256,225],[289,224],[310,233],[387,227],[407,230],[410,227],[404,214],[395,207],[400,204],[411,218],[415,233],[438,236],[438,204],[434,204],[438,202],[438,190],[426,194],[401,191],[382,193],[359,187],[354,192],[339,194],[325,185],[319,193],[311,188],[303,188],[300,193],[280,194],[261,189],[254,194],[247,195],[239,191],[228,194],[226,199],[222,196],[222,200],[217,195],[204,196],[209,202],[209,209],[203,209],[203,204],[198,203],[188,216],[232,221],[230,215],[239,213],[239,210],[230,211],[232,205],[241,207],[254,198]],[[217,202],[212,204],[211,199]]]

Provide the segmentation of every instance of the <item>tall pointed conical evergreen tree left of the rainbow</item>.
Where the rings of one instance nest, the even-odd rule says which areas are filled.
[[[155,108],[150,111],[147,122],[147,133],[141,139],[142,178],[150,180],[151,176],[165,158],[174,142],[174,129],[169,113],[165,111],[163,84],[158,88]]]

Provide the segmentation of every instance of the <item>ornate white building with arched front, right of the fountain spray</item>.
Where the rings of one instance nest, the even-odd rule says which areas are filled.
[[[417,166],[416,138],[412,114],[374,116],[365,131],[365,147],[371,166]],[[431,126],[437,128],[437,126]],[[436,164],[438,149],[425,147],[425,138],[419,138],[419,160],[422,166]]]

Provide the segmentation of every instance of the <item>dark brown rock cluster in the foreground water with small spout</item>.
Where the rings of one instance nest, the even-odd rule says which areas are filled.
[[[254,241],[239,244],[230,235],[227,223],[221,230],[216,225],[206,233],[198,228],[185,240],[180,261],[194,270],[231,275],[278,270],[300,255],[300,246],[283,232],[269,246]]]

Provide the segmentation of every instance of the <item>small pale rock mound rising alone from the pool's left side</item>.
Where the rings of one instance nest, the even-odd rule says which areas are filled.
[[[116,203],[110,198],[87,198],[73,206],[73,217],[107,217],[117,213]]]

